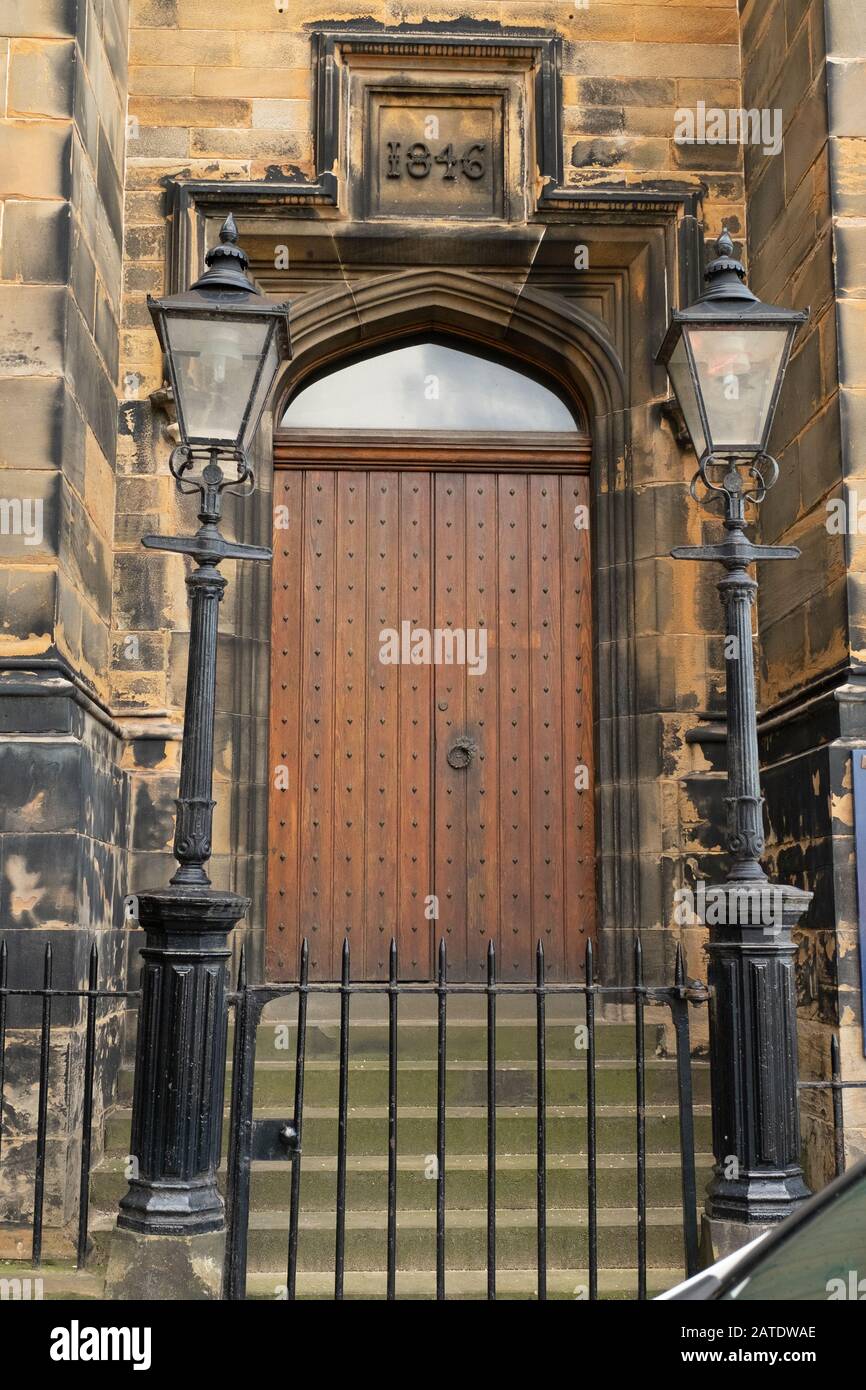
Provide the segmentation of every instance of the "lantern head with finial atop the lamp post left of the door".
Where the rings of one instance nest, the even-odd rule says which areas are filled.
[[[289,356],[289,306],[265,299],[249,279],[234,217],[192,289],[147,296],[188,449],[245,456],[282,359]]]

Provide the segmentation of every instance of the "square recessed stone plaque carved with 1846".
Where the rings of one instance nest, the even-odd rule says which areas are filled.
[[[371,217],[505,217],[503,93],[368,96]]]

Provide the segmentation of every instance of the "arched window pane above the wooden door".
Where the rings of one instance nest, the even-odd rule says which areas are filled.
[[[356,359],[302,386],[282,425],[306,430],[574,431],[535,377],[463,348],[420,342]]]

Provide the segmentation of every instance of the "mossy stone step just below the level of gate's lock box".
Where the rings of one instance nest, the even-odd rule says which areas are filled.
[[[712,1156],[696,1159],[698,1193],[709,1182]],[[257,1209],[285,1207],[289,1191],[289,1161],[254,1162],[250,1179],[250,1205]],[[428,1156],[402,1155],[398,1159],[398,1207],[409,1211],[432,1211],[436,1183],[428,1176]],[[225,1165],[220,1186],[225,1190]],[[114,1211],[126,1190],[120,1158],[106,1159],[93,1172],[92,1202],[95,1209]],[[487,1159],[475,1154],[446,1159],[448,1209],[481,1208],[487,1202]],[[346,1173],[346,1209],[375,1211],[386,1204],[388,1159],[352,1158]],[[637,1204],[634,1158],[603,1156],[598,1162],[596,1201],[599,1207]],[[677,1207],[681,1202],[680,1159],[673,1154],[651,1154],[646,1161],[646,1202],[649,1207]],[[336,1204],[336,1159],[304,1155],[302,1161],[302,1204],[306,1211],[332,1211]],[[496,1207],[500,1211],[531,1211],[535,1204],[535,1161],[530,1156],[499,1156],[496,1162]],[[548,1161],[548,1207],[581,1208],[588,1204],[587,1159],[566,1154]]]

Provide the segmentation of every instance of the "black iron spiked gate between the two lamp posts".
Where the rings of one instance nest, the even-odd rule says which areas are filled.
[[[231,997],[235,1015],[235,1047],[232,1066],[231,1133],[228,1155],[228,1252],[225,1297],[246,1297],[247,1232],[250,1213],[252,1163],[265,1159],[291,1159],[289,1212],[286,1230],[286,1297],[297,1291],[297,1248],[300,1204],[300,1175],[303,1154],[304,1074],[307,1055],[307,1009],[316,997],[339,995],[339,1081],[336,1116],[336,1226],[334,1250],[334,1297],[345,1293],[346,1261],[346,1156],[349,1130],[349,1055],[350,1002],[353,998],[378,995],[388,1005],[388,1182],[386,1182],[386,1298],[396,1297],[398,1276],[398,1063],[399,1063],[399,1006],[409,998],[432,997],[436,1019],[436,1098],[435,1098],[435,1287],[436,1298],[445,1298],[445,1236],[446,1236],[446,1074],[448,1074],[448,1002],[461,995],[482,997],[487,1002],[487,1297],[496,1297],[496,1030],[498,1006],[503,999],[528,997],[535,1013],[535,1230],[537,1230],[537,1297],[548,1295],[548,1022],[546,1005],[552,998],[570,997],[585,1006],[587,1047],[584,1061],[575,1066],[585,1069],[587,1088],[587,1232],[588,1232],[588,1297],[598,1298],[599,1236],[598,1236],[598,1102],[596,1102],[596,1008],[624,1005],[634,1011],[634,1069],[635,1069],[635,1179],[637,1179],[637,1275],[638,1297],[646,1297],[646,1008],[655,1005],[670,1011],[676,1038],[677,1109],[680,1130],[681,1212],[684,1238],[684,1266],[691,1275],[698,1269],[698,1198],[695,1183],[694,1087],[689,1036],[689,1006],[705,1004],[701,986],[685,980],[683,952],[677,949],[674,983],[651,986],[644,980],[641,942],[634,947],[634,981],[624,986],[599,984],[595,980],[592,942],[587,944],[585,983],[562,984],[545,980],[545,956],[541,942],[535,955],[535,983],[500,983],[496,977],[496,954],[489,944],[485,983],[452,983],[448,980],[446,945],[438,949],[436,979],[427,983],[400,981],[398,947],[391,942],[388,980],[352,981],[349,941],[343,944],[339,983],[311,981],[309,977],[309,947],[300,954],[297,983],[250,986],[245,979],[243,960],[238,990]],[[296,1002],[295,1104],[288,1120],[256,1120],[253,1116],[253,1077],[259,1026],[268,1004],[277,999]]]

